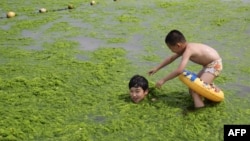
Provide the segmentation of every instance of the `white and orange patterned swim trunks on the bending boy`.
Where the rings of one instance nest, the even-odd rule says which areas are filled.
[[[222,71],[222,60],[215,60],[210,64],[205,66],[204,72],[212,73],[215,76],[219,76],[220,72]]]

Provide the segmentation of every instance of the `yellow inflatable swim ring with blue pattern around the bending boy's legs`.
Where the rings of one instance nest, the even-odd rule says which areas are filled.
[[[209,100],[220,102],[224,99],[222,90],[216,91],[212,85],[203,82],[195,73],[184,70],[183,73],[179,75],[179,79],[190,89]]]

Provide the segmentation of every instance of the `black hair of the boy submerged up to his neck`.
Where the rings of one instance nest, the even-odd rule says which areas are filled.
[[[136,74],[130,79],[128,87],[129,89],[131,87],[141,87],[145,91],[148,89],[148,80],[145,77]]]

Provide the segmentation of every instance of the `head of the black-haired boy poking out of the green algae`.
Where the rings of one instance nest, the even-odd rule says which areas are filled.
[[[140,75],[134,75],[129,81],[129,93],[133,102],[138,103],[148,94],[148,80]]]

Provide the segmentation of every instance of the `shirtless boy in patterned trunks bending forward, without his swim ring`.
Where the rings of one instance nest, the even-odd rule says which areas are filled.
[[[184,35],[178,30],[170,31],[165,38],[165,43],[174,54],[164,59],[162,63],[155,68],[151,69],[148,72],[149,75],[155,74],[158,70],[169,65],[180,56],[182,56],[182,58],[178,68],[156,82],[156,87],[160,88],[168,80],[180,75],[184,71],[189,60],[203,67],[197,75],[208,84],[212,84],[214,79],[220,74],[222,70],[222,59],[218,52],[212,47],[200,43],[189,43],[186,41]],[[205,106],[202,96],[191,89],[189,89],[189,93],[193,98],[195,108]]]

